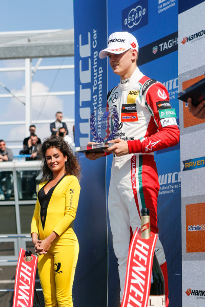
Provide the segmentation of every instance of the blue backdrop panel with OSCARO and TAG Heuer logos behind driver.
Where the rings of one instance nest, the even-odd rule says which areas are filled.
[[[140,13],[141,12],[141,13]],[[121,19],[119,18],[121,16]],[[128,31],[139,44],[139,69],[148,77],[163,83],[170,95],[166,105],[165,93],[159,112],[176,114],[178,109],[178,1],[108,1],[108,36],[116,31]],[[108,68],[108,90],[116,86],[119,77]],[[175,118],[173,117],[173,120]],[[166,125],[166,123],[165,123]],[[158,225],[159,237],[168,261],[170,307],[181,305],[181,210],[180,210],[180,152],[179,145],[155,154],[159,174]],[[169,234],[172,232],[172,236]]]

